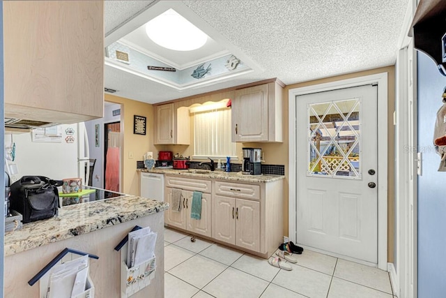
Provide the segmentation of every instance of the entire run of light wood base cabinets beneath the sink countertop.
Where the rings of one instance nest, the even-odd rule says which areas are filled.
[[[164,216],[169,228],[203,235],[222,244],[268,258],[283,241],[283,181],[249,183],[224,179],[165,176],[164,200],[180,188],[182,211],[170,207]],[[203,193],[201,221],[190,218],[192,191]]]

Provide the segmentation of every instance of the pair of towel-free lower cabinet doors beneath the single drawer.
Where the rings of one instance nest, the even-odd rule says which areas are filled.
[[[260,251],[260,202],[215,195],[213,237]]]

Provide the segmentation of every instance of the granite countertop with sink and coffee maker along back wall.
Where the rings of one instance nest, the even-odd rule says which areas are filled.
[[[209,171],[209,170],[199,170],[199,169],[172,170],[172,169],[155,168],[153,170],[147,170],[147,169],[140,169],[140,170],[141,172],[171,174],[182,177],[245,181],[252,183],[266,183],[285,178],[284,175],[270,175],[270,174],[247,175],[247,174],[242,174],[241,172]]]

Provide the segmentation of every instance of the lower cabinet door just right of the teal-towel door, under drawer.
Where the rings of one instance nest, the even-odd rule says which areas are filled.
[[[215,195],[212,218],[213,238],[236,244],[236,199]]]

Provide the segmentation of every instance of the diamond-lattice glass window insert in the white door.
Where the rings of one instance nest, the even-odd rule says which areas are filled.
[[[360,99],[307,105],[308,176],[360,179]]]

